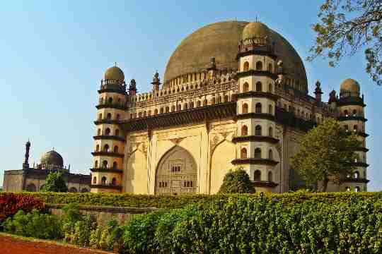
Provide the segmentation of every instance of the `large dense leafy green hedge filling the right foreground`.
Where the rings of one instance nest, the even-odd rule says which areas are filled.
[[[125,226],[133,234],[125,253],[382,253],[382,202],[243,196],[142,215]]]

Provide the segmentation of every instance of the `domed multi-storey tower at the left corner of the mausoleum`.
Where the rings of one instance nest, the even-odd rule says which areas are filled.
[[[127,96],[125,75],[120,68],[112,66],[105,71],[98,94],[91,192],[120,193],[125,136],[118,123],[125,119]]]

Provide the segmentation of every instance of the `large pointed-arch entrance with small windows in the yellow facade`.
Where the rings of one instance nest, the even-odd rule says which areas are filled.
[[[175,146],[156,169],[155,194],[197,193],[197,165],[190,152]]]

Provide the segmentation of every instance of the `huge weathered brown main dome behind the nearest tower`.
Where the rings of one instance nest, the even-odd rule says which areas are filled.
[[[224,21],[206,25],[192,32],[180,42],[170,56],[163,77],[164,82],[187,73],[204,71],[212,57],[215,57],[217,68],[236,71],[238,42],[247,24],[245,21]],[[284,62],[287,76],[299,80],[307,92],[306,71],[299,54],[284,37],[272,29],[270,37],[275,42],[277,56]]]

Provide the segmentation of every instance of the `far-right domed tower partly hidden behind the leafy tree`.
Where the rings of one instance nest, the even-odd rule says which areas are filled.
[[[352,176],[342,176],[340,191],[367,191],[366,169],[369,164],[366,163],[366,137],[364,96],[360,95],[360,86],[356,80],[344,80],[340,87],[340,98],[337,99],[337,115],[341,126],[348,132],[357,134],[361,146],[355,151],[358,159],[353,163],[355,170]]]

